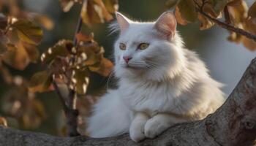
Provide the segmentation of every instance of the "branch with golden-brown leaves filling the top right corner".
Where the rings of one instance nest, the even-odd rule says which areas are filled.
[[[250,7],[244,0],[167,0],[166,5],[175,8],[179,24],[199,21],[200,30],[217,24],[230,31],[230,42],[242,42],[249,50],[256,50],[256,1]],[[222,15],[225,22],[219,20]]]

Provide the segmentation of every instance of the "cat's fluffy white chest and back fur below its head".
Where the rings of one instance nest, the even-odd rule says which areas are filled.
[[[223,102],[222,86],[211,79],[198,56],[184,50],[185,66],[170,80],[121,79],[120,98],[132,111],[155,115],[159,112],[201,119]]]

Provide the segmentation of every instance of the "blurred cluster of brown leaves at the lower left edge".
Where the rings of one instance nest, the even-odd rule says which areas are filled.
[[[22,77],[15,78],[17,83],[4,94],[1,107],[22,124],[20,128],[36,128],[46,116],[44,107],[35,94],[29,92],[27,81]]]

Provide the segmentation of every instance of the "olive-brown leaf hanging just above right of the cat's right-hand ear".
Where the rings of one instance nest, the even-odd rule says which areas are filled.
[[[195,9],[195,2],[193,0],[180,0],[178,2],[178,9],[181,12],[181,17],[184,20],[192,23],[197,20],[197,11]]]

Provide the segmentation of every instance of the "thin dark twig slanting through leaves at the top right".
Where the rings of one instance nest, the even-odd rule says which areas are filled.
[[[241,34],[242,36],[247,37],[248,39],[253,39],[256,42],[256,35],[251,34],[251,33],[247,32],[247,31],[244,31],[244,29],[236,28],[236,27],[231,26],[231,25],[229,25],[227,23],[223,23],[220,20],[212,18],[210,15],[206,14],[206,12],[203,12],[203,7],[202,6],[200,6],[196,1],[194,1],[194,2],[195,2],[195,4],[197,4],[197,7],[196,7],[197,12],[200,12],[202,15],[204,15],[209,20],[213,21],[214,23],[217,23],[217,25],[219,25],[222,28],[225,28],[225,29],[227,29],[229,31],[236,32],[237,34]]]

